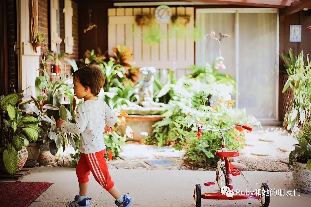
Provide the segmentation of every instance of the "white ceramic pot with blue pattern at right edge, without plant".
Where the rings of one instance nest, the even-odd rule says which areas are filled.
[[[307,164],[294,162],[292,174],[300,192],[311,194],[311,170],[307,170]]]

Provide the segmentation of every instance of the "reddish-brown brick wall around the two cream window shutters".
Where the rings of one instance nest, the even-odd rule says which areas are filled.
[[[63,8],[64,8],[64,0],[59,0],[59,23],[60,23],[60,34],[59,37],[64,39],[64,14],[63,14]],[[68,59],[74,59],[78,61],[79,58],[79,40],[78,40],[78,4],[75,1],[72,1],[72,8],[73,8],[73,17],[72,17],[72,35],[73,35],[73,53],[72,54],[67,54],[66,58]],[[45,43],[41,44],[41,56],[43,54],[47,55],[49,54],[49,49],[50,49],[50,1],[49,0],[39,0],[38,1],[38,16],[39,16],[39,32],[43,32],[44,38],[45,38]],[[60,51],[64,52],[64,42],[60,44]],[[41,65],[41,57],[39,57],[39,62]],[[72,73],[70,71],[70,65],[62,60],[62,65],[63,67],[66,66],[66,71],[64,71],[66,74],[67,73]],[[48,72],[51,71],[50,69],[50,64],[51,60],[47,61],[47,70]],[[42,67],[42,65],[41,65]]]

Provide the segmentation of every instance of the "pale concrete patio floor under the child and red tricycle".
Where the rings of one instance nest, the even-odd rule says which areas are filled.
[[[30,207],[65,206],[79,194],[79,184],[75,168],[35,167],[31,174],[22,182],[52,182]],[[201,184],[202,192],[219,192],[218,186],[204,186],[205,182],[213,181],[215,171],[187,170],[121,170],[110,169],[112,180],[123,193],[130,193],[135,198],[132,207],[146,206],[194,206],[194,186]],[[234,190],[255,190],[266,182],[270,189],[294,190],[295,183],[291,173],[244,171],[233,177]],[[12,181],[3,179],[1,181]],[[12,181],[14,182],[14,181]],[[293,193],[292,193],[293,194]],[[90,175],[88,196],[92,198],[92,206],[113,207],[114,198],[105,191]],[[310,206],[311,195],[301,193],[300,196],[270,196],[270,205],[279,206]],[[202,200],[202,206],[261,206],[254,200]]]

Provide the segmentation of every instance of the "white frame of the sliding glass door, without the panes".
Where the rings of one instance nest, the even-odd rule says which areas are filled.
[[[278,121],[279,117],[279,55],[280,55],[280,26],[279,26],[279,9],[269,9],[269,8],[219,8],[219,9],[211,9],[211,8],[202,8],[196,9],[195,14],[198,13],[234,13],[235,14],[235,79],[236,79],[236,87],[235,90],[237,94],[239,93],[239,14],[240,13],[275,13],[276,14],[276,60],[275,60],[275,74],[276,74],[276,82],[275,82],[275,117],[272,118],[261,118],[260,121]],[[204,29],[204,28],[203,28]],[[204,53],[204,51],[202,51]],[[198,54],[198,53],[196,53]],[[239,107],[239,100],[236,99],[235,108]]]

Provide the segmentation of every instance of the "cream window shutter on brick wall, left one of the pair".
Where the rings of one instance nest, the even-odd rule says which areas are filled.
[[[57,52],[56,40],[59,36],[57,32],[57,12],[58,12],[58,0],[51,0],[50,41],[51,41],[51,51],[53,52]]]

